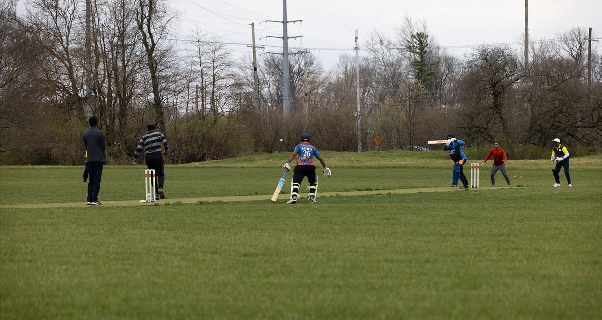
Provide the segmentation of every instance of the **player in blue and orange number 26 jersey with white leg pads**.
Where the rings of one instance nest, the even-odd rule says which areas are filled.
[[[290,171],[291,161],[293,161],[297,155],[299,156],[299,159],[297,159],[297,165],[293,170],[291,197],[287,202],[288,205],[297,203],[297,200],[299,199],[299,186],[301,185],[301,182],[303,182],[304,177],[307,177],[309,180],[309,203],[315,203],[315,198],[318,192],[318,176],[315,175],[314,156],[320,161],[322,167],[324,167],[324,170],[322,171],[324,176],[330,176],[330,169],[326,167],[326,162],[324,162],[324,159],[318,152],[318,149],[315,149],[315,147],[309,143],[309,140],[309,134],[302,134],[301,143],[297,144],[293,153],[291,153],[291,155],[288,157],[287,163],[284,164],[284,170],[287,170],[287,172]]]

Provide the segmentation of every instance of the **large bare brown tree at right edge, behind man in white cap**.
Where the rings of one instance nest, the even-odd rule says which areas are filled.
[[[583,69],[573,58],[557,54],[556,48],[533,49],[532,85],[528,88],[530,123],[526,141],[549,143],[561,137],[569,144],[590,148],[602,144],[602,97],[600,82],[590,94],[582,80]]]

